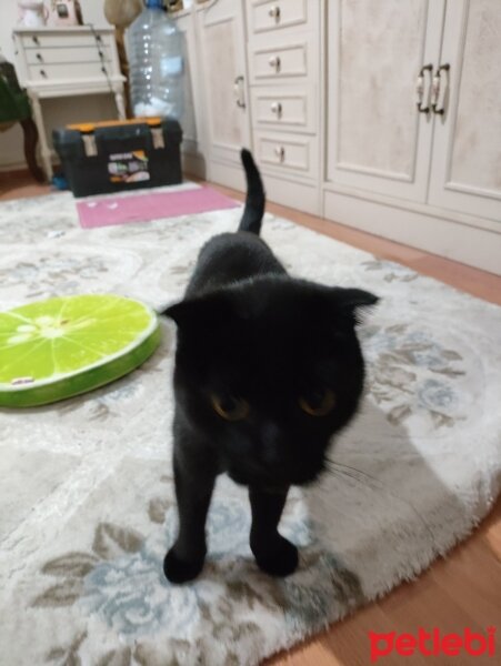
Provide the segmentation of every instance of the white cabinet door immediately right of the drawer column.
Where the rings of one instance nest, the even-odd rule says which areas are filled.
[[[443,0],[330,0],[327,180],[425,201],[431,113],[417,81],[437,63]],[[431,84],[424,73],[423,104]]]

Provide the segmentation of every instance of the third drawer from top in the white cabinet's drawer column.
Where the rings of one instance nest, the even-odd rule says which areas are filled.
[[[315,98],[312,85],[251,88],[253,123],[258,129],[315,132]]]

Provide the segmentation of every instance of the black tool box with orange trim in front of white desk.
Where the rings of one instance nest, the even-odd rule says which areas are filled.
[[[182,130],[173,119],[68,125],[52,140],[74,196],[182,182]]]

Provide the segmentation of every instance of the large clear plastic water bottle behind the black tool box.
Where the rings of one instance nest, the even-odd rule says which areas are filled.
[[[162,7],[162,0],[146,0],[143,11],[129,28],[131,107],[137,118],[169,115],[180,120],[184,94],[184,38]]]

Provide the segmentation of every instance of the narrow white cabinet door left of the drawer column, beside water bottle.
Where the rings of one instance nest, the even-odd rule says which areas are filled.
[[[240,149],[250,142],[242,0],[201,7],[199,80],[206,91],[209,160],[240,164]]]

